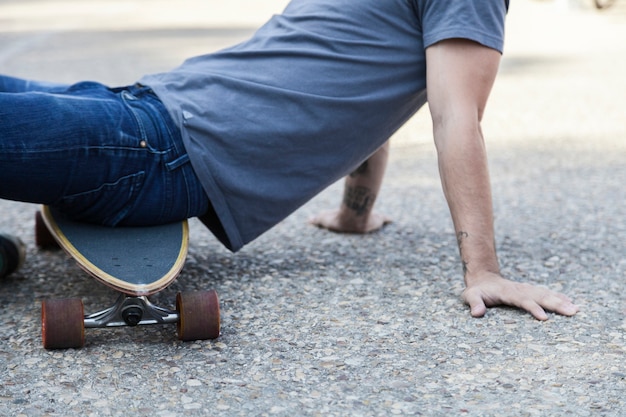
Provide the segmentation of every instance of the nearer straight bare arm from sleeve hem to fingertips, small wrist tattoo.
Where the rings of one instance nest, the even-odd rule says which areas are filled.
[[[472,316],[510,305],[546,320],[545,310],[574,315],[563,294],[509,281],[500,275],[491,186],[480,122],[496,77],[500,53],[453,39],[426,51],[428,101],[442,186],[456,231]]]

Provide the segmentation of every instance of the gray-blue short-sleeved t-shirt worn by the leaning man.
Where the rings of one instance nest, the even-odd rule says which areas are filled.
[[[144,77],[239,250],[367,159],[426,100],[425,48],[502,51],[505,0],[293,0],[251,39]]]

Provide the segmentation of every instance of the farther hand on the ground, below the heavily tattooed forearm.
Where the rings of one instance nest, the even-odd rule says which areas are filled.
[[[378,213],[368,216],[346,215],[341,209],[324,211],[309,219],[313,226],[337,233],[370,233],[391,223],[391,219]]]

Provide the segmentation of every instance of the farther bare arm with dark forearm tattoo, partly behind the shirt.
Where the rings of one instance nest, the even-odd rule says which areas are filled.
[[[346,177],[339,209],[322,212],[310,223],[341,233],[369,233],[389,223],[391,220],[388,217],[373,211],[388,156],[389,142],[386,142]]]

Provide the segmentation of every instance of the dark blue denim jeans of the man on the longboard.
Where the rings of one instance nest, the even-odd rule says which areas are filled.
[[[0,198],[108,226],[167,223],[209,208],[180,131],[149,88],[5,76]]]

